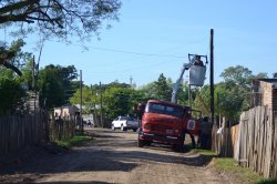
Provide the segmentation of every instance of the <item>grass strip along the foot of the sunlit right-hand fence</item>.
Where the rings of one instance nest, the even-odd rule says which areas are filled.
[[[215,152],[208,150],[194,149],[195,152],[204,155],[214,155],[213,166],[218,172],[226,172],[249,184],[276,184],[277,180],[261,177],[248,167],[238,166],[237,161],[229,157],[217,157]]]

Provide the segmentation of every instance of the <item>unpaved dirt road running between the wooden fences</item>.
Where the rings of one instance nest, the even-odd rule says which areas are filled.
[[[72,151],[35,155],[28,163],[0,172],[6,183],[151,183],[229,184],[214,174],[196,153],[176,153],[170,146],[136,146],[137,133],[90,130],[94,140]],[[40,153],[38,153],[40,154]]]

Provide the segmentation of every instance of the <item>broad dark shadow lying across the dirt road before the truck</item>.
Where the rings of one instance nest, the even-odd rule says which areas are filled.
[[[18,164],[0,174],[25,172],[25,173],[64,173],[85,171],[122,171],[129,172],[141,162],[151,163],[174,163],[193,166],[202,166],[209,162],[212,157],[195,155],[192,157],[150,153],[147,149],[142,151],[114,151],[114,150],[92,150],[83,149],[61,155],[41,157],[40,161],[32,161],[25,164]]]

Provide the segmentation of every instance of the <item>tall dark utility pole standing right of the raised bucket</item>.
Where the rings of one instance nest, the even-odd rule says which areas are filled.
[[[212,123],[215,119],[215,95],[214,95],[214,30],[211,29],[211,43],[209,43],[209,60],[211,60],[211,72],[209,72],[209,84],[211,84],[211,116]]]

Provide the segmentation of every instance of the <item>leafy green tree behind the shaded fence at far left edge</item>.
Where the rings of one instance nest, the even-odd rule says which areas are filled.
[[[2,44],[2,43],[1,43]],[[23,52],[23,41],[18,40],[11,43],[7,49],[4,44],[0,45],[0,111],[10,113],[21,113],[27,110],[24,105],[25,92],[22,88],[24,78],[14,74],[22,74],[20,69],[24,65],[30,53]],[[7,60],[10,58],[10,60]]]

